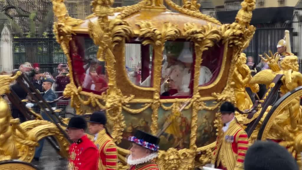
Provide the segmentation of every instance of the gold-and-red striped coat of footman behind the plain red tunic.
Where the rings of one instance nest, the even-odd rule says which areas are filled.
[[[117,148],[111,137],[107,135],[105,129],[98,133],[98,137],[94,143],[99,150],[98,169],[117,169]]]

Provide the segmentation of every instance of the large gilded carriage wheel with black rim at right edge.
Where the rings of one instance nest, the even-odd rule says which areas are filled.
[[[294,118],[294,109],[291,107],[291,102],[297,98],[300,99],[301,96],[302,86],[297,87],[293,91],[286,93],[284,96],[282,96],[272,106],[271,110],[264,118],[264,121],[262,123],[261,128],[259,129],[257,137],[257,140],[267,140],[268,134],[272,132],[270,130],[274,128],[274,131],[278,133],[278,136],[281,136],[279,137],[279,139],[281,140],[276,142],[279,142],[281,146],[284,146],[288,149],[291,155],[297,160],[297,164],[300,166],[300,168],[302,167],[300,154],[302,152],[302,124],[299,123],[301,122],[301,120],[297,121]],[[300,106],[299,109],[301,109],[300,100],[298,105]],[[286,122],[286,124],[284,125],[275,124],[274,121],[284,108],[288,109],[289,111],[289,115],[285,119],[288,120],[288,118],[290,118],[290,121]]]

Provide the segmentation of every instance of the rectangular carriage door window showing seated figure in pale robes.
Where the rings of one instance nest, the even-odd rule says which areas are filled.
[[[194,46],[191,42],[165,43],[161,97],[188,97],[193,87]]]

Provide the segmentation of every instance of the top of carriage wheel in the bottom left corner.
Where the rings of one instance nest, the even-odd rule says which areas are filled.
[[[0,161],[1,170],[39,170],[34,165],[19,160]]]

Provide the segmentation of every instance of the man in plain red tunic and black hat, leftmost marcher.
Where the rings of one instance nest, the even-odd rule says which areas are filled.
[[[68,170],[98,170],[98,149],[85,135],[87,123],[80,116],[72,117],[66,129],[74,141],[69,147]]]

